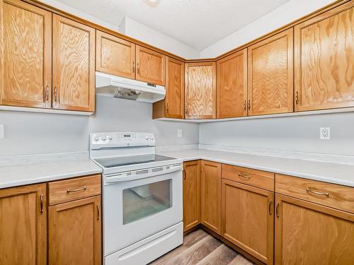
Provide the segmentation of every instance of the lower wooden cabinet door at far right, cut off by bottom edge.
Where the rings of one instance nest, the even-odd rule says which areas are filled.
[[[275,201],[275,264],[354,264],[353,214],[278,194]]]

